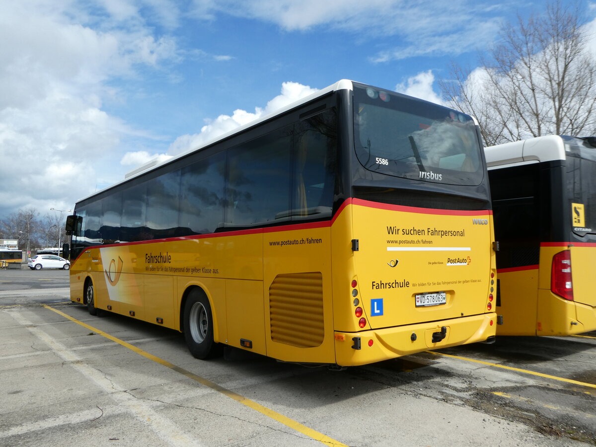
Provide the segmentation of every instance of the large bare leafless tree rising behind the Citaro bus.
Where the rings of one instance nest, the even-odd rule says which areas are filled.
[[[481,66],[440,80],[454,108],[474,114],[486,145],[541,135],[594,135],[596,60],[581,8],[554,1],[501,30]]]

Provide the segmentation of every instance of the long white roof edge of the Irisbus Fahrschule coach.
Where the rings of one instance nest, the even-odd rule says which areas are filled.
[[[304,97],[304,98],[302,98],[302,99],[300,99],[298,101],[294,101],[294,103],[285,105],[284,107],[278,108],[277,110],[273,111],[272,113],[269,113],[269,114],[267,114],[267,115],[265,115],[263,117],[260,117],[259,119],[256,119],[254,121],[251,121],[251,122],[249,122],[249,123],[247,123],[247,124],[245,124],[243,126],[240,126],[238,128],[232,129],[231,131],[226,132],[225,134],[216,136],[215,138],[210,139],[209,141],[204,142],[203,144],[199,145],[198,147],[191,148],[191,149],[189,149],[187,151],[184,151],[184,152],[182,152],[180,154],[177,154],[176,156],[173,156],[170,159],[163,160],[161,162],[159,162],[157,160],[151,160],[150,162],[144,164],[143,166],[138,167],[138,168],[132,170],[131,172],[127,173],[125,175],[125,178],[122,181],[116,182],[115,184],[110,185],[108,187],[105,187],[102,190],[97,191],[97,192],[95,192],[93,194],[86,195],[85,197],[82,197],[79,200],[77,200],[77,203],[79,203],[80,201],[86,200],[89,197],[94,197],[95,195],[100,194],[100,193],[102,193],[105,190],[114,188],[117,185],[123,184],[123,183],[125,183],[125,182],[127,182],[127,181],[129,181],[129,180],[131,180],[133,178],[136,178],[139,175],[142,175],[144,173],[150,172],[151,170],[157,169],[160,166],[164,166],[166,164],[175,162],[176,160],[181,159],[182,157],[185,157],[188,154],[194,153],[194,152],[196,152],[198,150],[201,150],[201,149],[203,149],[205,147],[208,147],[208,146],[214,144],[215,142],[222,141],[222,140],[228,138],[229,136],[232,136],[232,135],[235,135],[235,134],[240,134],[240,132],[243,132],[245,129],[249,129],[249,128],[252,128],[253,126],[257,126],[260,123],[263,123],[263,122],[266,122],[266,121],[270,120],[272,117],[281,115],[281,114],[285,113],[288,110],[291,110],[291,109],[293,109],[295,107],[299,107],[302,104],[307,104],[307,103],[309,103],[309,102],[311,102],[313,100],[316,100],[317,98],[324,97],[325,95],[327,95],[327,94],[329,94],[331,92],[339,91],[339,90],[349,90],[349,91],[352,91],[353,90],[353,83],[354,82],[355,81],[352,81],[352,80],[349,80],[349,79],[341,79],[341,80],[337,81],[336,83],[331,84],[330,86],[327,86],[327,87],[325,87],[325,88],[323,88],[321,90],[318,90],[318,91],[314,92],[311,95],[308,95],[307,97]]]

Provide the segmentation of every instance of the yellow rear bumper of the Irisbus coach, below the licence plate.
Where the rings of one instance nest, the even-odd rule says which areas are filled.
[[[443,329],[444,328],[444,329]],[[496,313],[357,333],[335,332],[336,362],[365,365],[428,349],[485,342],[495,336]]]

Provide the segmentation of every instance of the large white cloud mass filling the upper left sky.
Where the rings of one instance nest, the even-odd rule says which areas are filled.
[[[145,2],[155,11],[170,3]],[[2,2],[0,218],[25,207],[72,208],[115,180],[108,166],[124,138],[155,138],[102,110],[103,98],[118,94],[109,81],[179,60],[174,39],[143,26],[138,4],[103,0],[99,17],[97,4]]]

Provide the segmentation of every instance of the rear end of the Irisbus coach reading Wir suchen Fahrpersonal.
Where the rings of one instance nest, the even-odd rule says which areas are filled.
[[[333,264],[337,364],[492,341],[492,212],[474,120],[358,85],[353,113],[352,197],[332,234],[333,259],[346,259]]]

